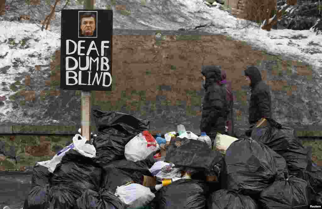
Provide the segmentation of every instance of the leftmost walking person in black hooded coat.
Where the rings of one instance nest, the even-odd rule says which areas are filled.
[[[202,67],[204,76],[204,100],[202,104],[201,132],[211,138],[212,145],[217,132],[225,134],[225,119],[228,114],[226,89],[221,83],[221,69],[219,66],[207,65]]]

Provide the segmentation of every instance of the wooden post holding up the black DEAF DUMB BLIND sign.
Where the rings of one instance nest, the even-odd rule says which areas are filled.
[[[85,0],[84,9],[94,9],[94,0]],[[81,91],[81,135],[90,140],[91,92]]]

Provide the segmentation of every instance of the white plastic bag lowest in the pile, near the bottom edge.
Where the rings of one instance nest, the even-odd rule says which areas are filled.
[[[115,196],[123,203],[129,205],[128,208],[144,207],[156,197],[150,188],[140,184],[118,186]]]

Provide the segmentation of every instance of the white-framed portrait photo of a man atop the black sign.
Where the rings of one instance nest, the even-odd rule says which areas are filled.
[[[79,38],[97,38],[97,12],[79,12]]]

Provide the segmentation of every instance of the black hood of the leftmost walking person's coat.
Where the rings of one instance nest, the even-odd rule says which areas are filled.
[[[206,89],[208,86],[217,83],[221,85],[221,70],[220,66],[216,65],[204,65],[202,66],[201,73],[206,77],[206,81],[204,84],[204,88]]]

